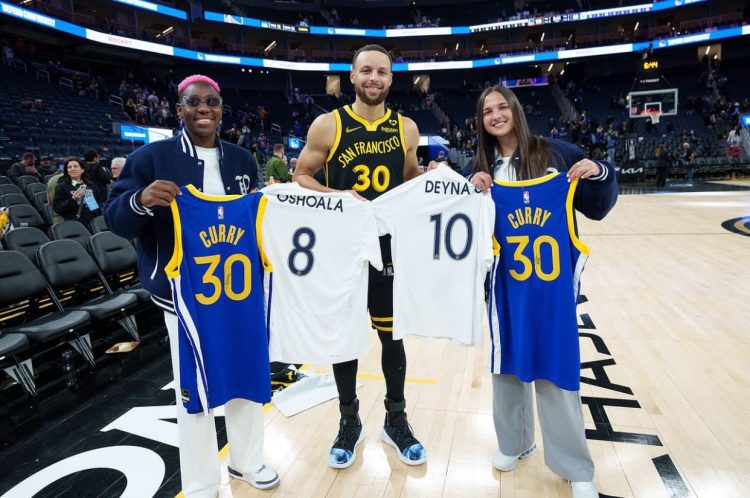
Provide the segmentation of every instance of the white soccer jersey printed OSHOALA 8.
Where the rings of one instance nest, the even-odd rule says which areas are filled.
[[[365,355],[368,263],[382,269],[372,203],[296,183],[262,192],[271,361],[341,363]]]

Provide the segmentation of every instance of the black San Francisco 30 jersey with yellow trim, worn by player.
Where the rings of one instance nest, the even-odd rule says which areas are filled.
[[[404,123],[400,114],[386,109],[370,122],[348,105],[333,111],[336,138],[323,169],[325,183],[337,190],[354,189],[365,199],[404,183]]]

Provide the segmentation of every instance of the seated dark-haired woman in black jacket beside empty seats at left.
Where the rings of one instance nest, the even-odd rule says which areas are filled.
[[[76,157],[63,164],[63,176],[55,187],[52,210],[65,220],[78,220],[87,225],[102,214],[103,198],[94,195],[93,185],[86,178],[86,169]]]

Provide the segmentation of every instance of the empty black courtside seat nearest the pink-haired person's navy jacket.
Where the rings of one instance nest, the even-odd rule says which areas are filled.
[[[137,255],[128,239],[99,232],[89,240],[88,250],[113,290],[133,293],[141,303],[151,302],[151,294],[138,283]]]

